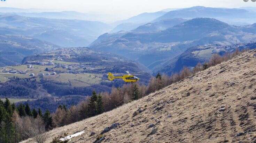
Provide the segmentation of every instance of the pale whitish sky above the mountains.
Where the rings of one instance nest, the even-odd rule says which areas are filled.
[[[0,7],[38,8],[96,12],[108,15],[131,17],[143,12],[155,12],[167,8],[206,7],[256,7],[249,0],[6,0]]]

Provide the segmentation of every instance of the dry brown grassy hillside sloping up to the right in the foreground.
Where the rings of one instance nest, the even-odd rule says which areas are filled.
[[[255,142],[256,50],[113,111],[55,128],[47,142],[84,130],[71,142],[92,143],[114,123],[120,125],[103,133],[102,142]]]

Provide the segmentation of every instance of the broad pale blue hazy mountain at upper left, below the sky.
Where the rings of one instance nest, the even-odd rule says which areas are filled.
[[[87,46],[109,29],[98,21],[0,15],[1,34],[29,36],[65,47]]]

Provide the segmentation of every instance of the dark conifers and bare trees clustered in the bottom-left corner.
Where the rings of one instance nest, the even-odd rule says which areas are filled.
[[[33,137],[35,142],[45,142],[44,133],[53,128],[50,111],[31,110],[29,105],[11,104],[0,100],[0,143],[16,143]],[[44,135],[44,136],[42,136]],[[40,137],[39,137],[40,136]]]

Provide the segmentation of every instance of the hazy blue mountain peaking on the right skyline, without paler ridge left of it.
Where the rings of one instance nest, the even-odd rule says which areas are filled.
[[[216,18],[229,24],[245,21],[246,23],[256,22],[256,15],[253,11],[237,8],[210,8],[202,6],[169,11],[163,16],[156,18],[154,21],[172,18],[192,19],[197,17]]]

